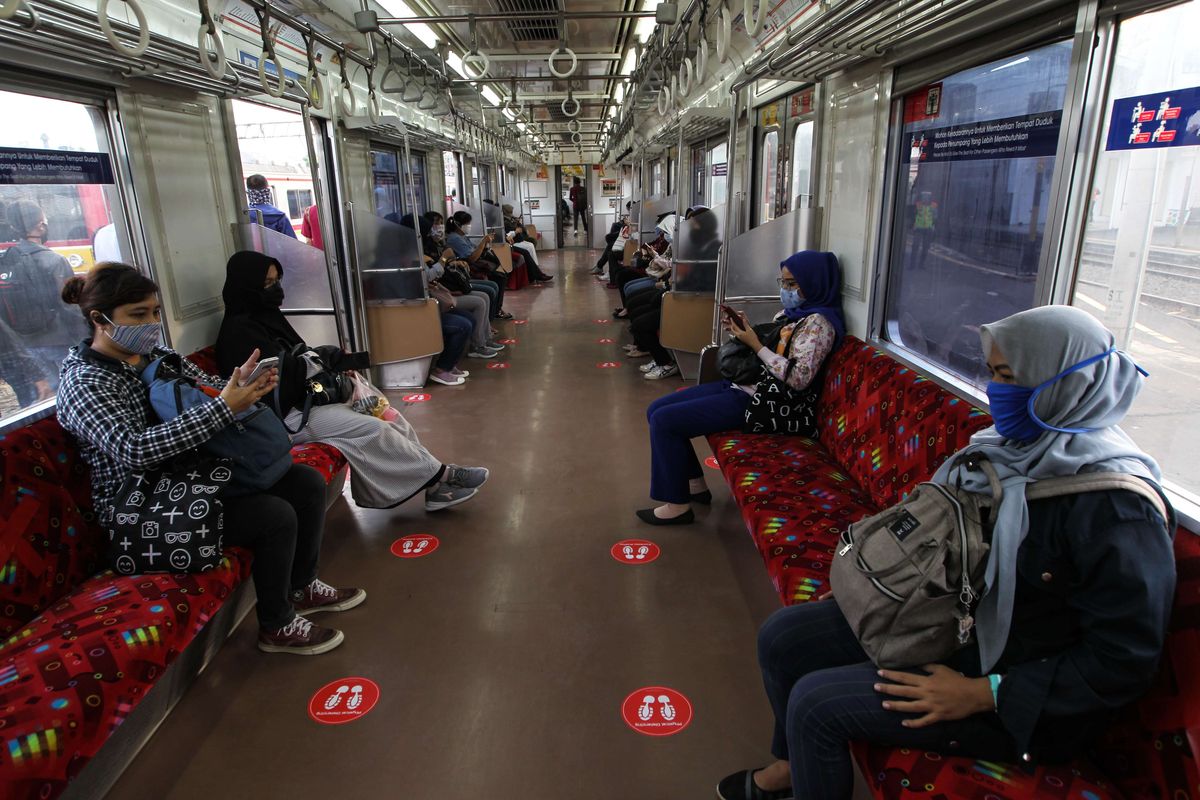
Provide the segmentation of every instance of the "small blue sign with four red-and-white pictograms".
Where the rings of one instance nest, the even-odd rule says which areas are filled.
[[[1112,101],[1105,150],[1151,150],[1200,144],[1200,88]]]

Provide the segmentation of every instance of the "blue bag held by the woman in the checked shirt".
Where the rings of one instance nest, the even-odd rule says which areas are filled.
[[[182,359],[170,353],[142,372],[150,405],[163,422],[212,401],[216,390],[184,374]],[[262,403],[234,416],[230,425],[199,445],[203,453],[226,459],[233,475],[227,494],[253,494],[275,486],[292,469],[292,439],[278,416]]]

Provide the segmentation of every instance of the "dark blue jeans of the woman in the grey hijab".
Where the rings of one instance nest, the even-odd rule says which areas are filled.
[[[758,631],[758,666],[775,712],[770,752],[792,765],[792,790],[804,800],[850,800],[850,742],[931,750],[1013,762],[1016,745],[996,714],[905,728],[918,714],[888,711],[888,696],[853,630],[833,600],[781,608]]]

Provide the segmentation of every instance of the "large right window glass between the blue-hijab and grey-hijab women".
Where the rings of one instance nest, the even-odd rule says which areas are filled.
[[[888,337],[979,385],[979,325],[1033,305],[1069,62],[1050,44],[902,101]]]

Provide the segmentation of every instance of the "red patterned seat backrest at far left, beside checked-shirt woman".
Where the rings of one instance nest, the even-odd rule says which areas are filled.
[[[91,479],[53,417],[0,435],[0,637],[90,578],[104,560]]]

